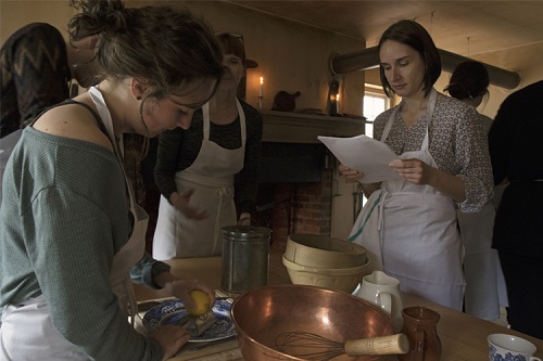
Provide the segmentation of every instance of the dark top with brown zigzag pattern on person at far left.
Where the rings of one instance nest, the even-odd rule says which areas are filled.
[[[70,98],[66,43],[45,23],[26,25],[0,50],[0,138]]]

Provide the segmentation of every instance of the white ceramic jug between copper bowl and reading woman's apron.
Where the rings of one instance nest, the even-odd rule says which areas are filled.
[[[362,279],[361,289],[356,296],[381,308],[390,315],[394,330],[396,332],[402,330],[404,301],[397,279],[381,271],[374,271]]]

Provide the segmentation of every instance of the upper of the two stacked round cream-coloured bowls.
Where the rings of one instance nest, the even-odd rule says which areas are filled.
[[[367,261],[365,247],[319,234],[291,234],[285,252],[287,259],[312,268],[353,268]]]

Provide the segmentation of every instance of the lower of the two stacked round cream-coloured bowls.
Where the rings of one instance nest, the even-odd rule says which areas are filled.
[[[365,265],[352,268],[312,268],[291,262],[282,256],[282,263],[287,267],[290,281],[293,284],[318,286],[328,289],[352,293],[368,273],[369,260]]]

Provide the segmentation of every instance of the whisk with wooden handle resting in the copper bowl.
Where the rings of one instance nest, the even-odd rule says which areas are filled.
[[[289,356],[312,361],[328,361],[341,354],[407,353],[409,341],[404,334],[351,339],[345,343],[303,331],[283,332],[276,337],[276,347]]]

